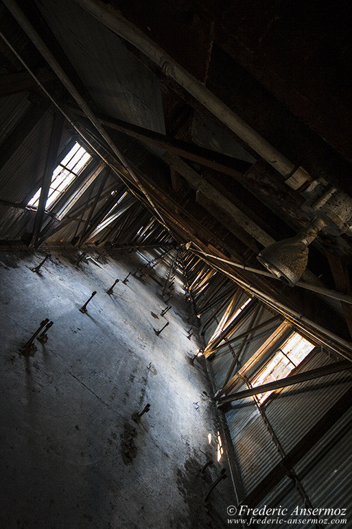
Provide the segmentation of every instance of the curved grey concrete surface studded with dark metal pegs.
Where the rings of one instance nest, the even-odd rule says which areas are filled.
[[[165,263],[154,280],[123,284],[154,255],[91,255],[99,265],[51,249],[34,273],[45,251],[0,251],[0,527],[222,527],[234,494],[223,480],[204,507],[226,461],[216,461],[207,372],[189,363],[198,344],[185,332],[182,275],[162,317]],[[47,341],[19,354],[45,318],[54,322]],[[215,464],[202,476],[209,458]]]

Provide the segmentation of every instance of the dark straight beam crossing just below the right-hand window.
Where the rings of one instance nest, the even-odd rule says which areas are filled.
[[[334,362],[329,365],[324,365],[322,368],[312,369],[303,373],[293,374],[292,376],[285,376],[284,379],[276,380],[274,382],[268,382],[267,384],[257,385],[250,387],[248,390],[240,391],[232,395],[218,397],[218,405],[225,403],[231,403],[233,401],[239,401],[241,398],[248,396],[258,395],[267,391],[279,390],[280,387],[288,387],[290,385],[298,384],[313,379],[319,379],[320,376],[327,376],[328,374],[338,373],[340,371],[346,371],[352,369],[352,362],[344,360],[341,362]]]

